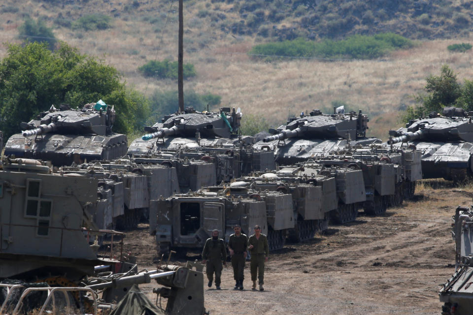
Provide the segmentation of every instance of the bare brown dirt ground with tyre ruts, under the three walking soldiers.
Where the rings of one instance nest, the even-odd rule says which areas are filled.
[[[439,285],[453,273],[451,216],[470,206],[469,189],[418,189],[414,201],[381,217],[330,226],[312,241],[270,254],[265,291],[251,291],[249,266],[244,291],[233,290],[231,268],[222,290],[205,286],[210,314],[440,314]],[[147,228],[129,233],[125,249],[140,267],[156,255]],[[197,256],[189,256],[195,259]],[[206,281],[205,281],[206,284]],[[150,292],[154,285],[141,285]],[[155,295],[148,293],[152,301]]]

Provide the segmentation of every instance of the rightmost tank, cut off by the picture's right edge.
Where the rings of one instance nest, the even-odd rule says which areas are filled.
[[[445,114],[452,111],[445,111]],[[453,112],[455,113],[455,112]],[[389,131],[389,144],[415,146],[422,152],[424,178],[463,181],[472,175],[473,124],[471,117],[431,114],[411,120],[405,128]]]

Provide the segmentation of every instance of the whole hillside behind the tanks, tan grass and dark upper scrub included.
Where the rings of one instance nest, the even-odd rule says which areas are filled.
[[[342,16],[340,10],[343,7],[359,1],[317,1],[318,4],[311,7],[309,3],[312,2],[266,1],[267,5],[262,7],[261,3],[265,1],[185,0],[184,59],[185,63],[195,65],[197,73],[196,77],[184,83],[185,89],[220,95],[221,106],[241,107],[243,113],[261,115],[273,126],[303,110],[319,108],[331,112],[333,104],[344,103],[349,110],[362,109],[370,114],[369,133],[386,138],[388,129],[399,126],[399,112],[412,104],[411,95],[420,92],[425,78],[438,74],[442,64],[449,64],[460,79],[473,78],[471,51],[451,53],[447,50],[450,44],[473,41],[464,31],[471,28],[468,18],[467,27],[455,26],[455,14],[468,10],[461,1],[444,1],[444,5],[440,2],[433,4],[434,1],[396,1],[399,4],[397,10],[390,9],[386,14],[391,18],[384,20],[377,17],[381,5],[375,5],[383,1],[363,1],[363,8],[369,8],[375,16],[372,23],[363,24],[362,10],[352,9],[352,18],[348,18],[346,13],[343,19],[354,24],[344,26],[337,34],[330,32],[328,27],[323,31],[321,22],[315,23],[315,20],[310,25],[303,24],[308,23],[304,17],[312,14],[318,15],[321,21],[332,19],[330,14],[338,12]],[[414,7],[419,3],[425,5]],[[283,14],[277,23],[271,20],[271,10],[275,5],[279,6],[277,12]],[[301,5],[306,9],[303,10]],[[264,11],[262,21],[249,24],[250,13],[262,15],[256,11],[258,8]],[[439,13],[442,10],[451,14],[443,17]],[[110,17],[111,27],[95,31],[74,28],[79,18],[90,14]],[[442,27],[423,24],[422,14],[430,16],[429,23],[443,23]],[[4,0],[0,4],[2,43],[21,41],[18,27],[26,16],[44,19],[58,39],[115,66],[127,84],[147,96],[157,90],[176,89],[174,80],[148,78],[138,71],[138,67],[148,61],[177,60],[176,0]],[[238,31],[232,27],[235,23],[244,24],[251,31]],[[429,26],[426,28],[430,31],[420,36],[415,30],[424,25]],[[271,30],[268,36],[258,35],[265,26]],[[413,49],[396,51],[378,60],[326,62],[285,59],[267,63],[248,57],[247,52],[256,43],[290,38],[275,31],[282,29],[303,30],[302,35],[307,38],[311,33],[315,33],[316,38],[337,38],[358,32],[393,31],[422,40]],[[453,33],[458,38],[444,38]],[[1,45],[0,57],[5,53],[6,47]]]

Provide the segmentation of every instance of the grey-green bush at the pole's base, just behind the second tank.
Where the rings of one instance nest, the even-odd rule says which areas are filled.
[[[207,105],[220,105],[221,98],[211,93],[200,95],[193,90],[184,91],[184,107],[192,106],[198,111],[203,111],[207,110]],[[161,121],[164,115],[177,112],[179,107],[177,91],[156,91],[151,95],[149,102],[155,122]]]

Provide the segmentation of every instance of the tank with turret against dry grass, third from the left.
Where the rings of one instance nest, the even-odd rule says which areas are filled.
[[[273,135],[263,138],[254,147],[274,151],[279,165],[291,165],[309,158],[324,157],[347,143],[380,143],[379,139],[366,138],[368,121],[361,110],[358,114],[340,112],[326,115],[315,109],[308,115],[301,113],[299,118],[289,120],[287,125],[270,129]]]

